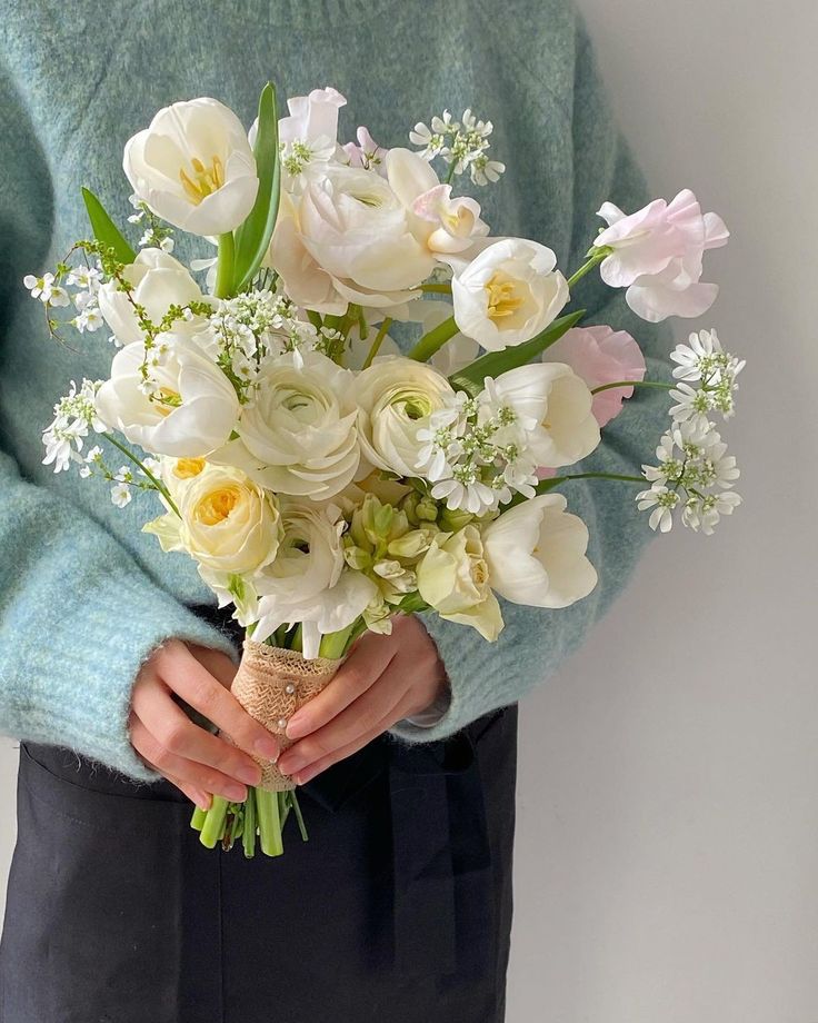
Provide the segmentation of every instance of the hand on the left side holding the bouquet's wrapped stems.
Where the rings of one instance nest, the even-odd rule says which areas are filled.
[[[230,693],[235,675],[236,665],[226,654],[170,639],[153,650],[133,686],[131,745],[202,810],[210,806],[210,793],[240,803],[247,785],[261,781],[261,768],[249,752],[270,761],[279,754],[276,737]],[[173,693],[241,748],[194,724]]]

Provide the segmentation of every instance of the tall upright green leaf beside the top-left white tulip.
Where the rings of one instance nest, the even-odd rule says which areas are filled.
[[[236,291],[248,285],[261,266],[278,217],[281,166],[278,152],[278,108],[272,82],[265,86],[259,98],[259,127],[253,152],[259,192],[250,216],[236,231]]]

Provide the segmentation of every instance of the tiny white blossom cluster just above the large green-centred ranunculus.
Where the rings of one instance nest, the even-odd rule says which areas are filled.
[[[209,320],[219,365],[235,378],[242,394],[269,357],[319,347],[316,328],[298,318],[297,307],[286,296],[269,289],[220,301]]]

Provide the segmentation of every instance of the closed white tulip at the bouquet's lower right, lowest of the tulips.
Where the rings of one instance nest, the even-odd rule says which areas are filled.
[[[588,529],[561,494],[541,494],[482,530],[491,586],[513,604],[568,607],[597,585],[586,557]]]

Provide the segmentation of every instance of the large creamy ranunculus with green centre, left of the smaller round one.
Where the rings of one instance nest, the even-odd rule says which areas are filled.
[[[238,440],[213,460],[238,465],[280,494],[323,500],[360,463],[352,374],[319,351],[288,352],[257,379],[236,427]]]

